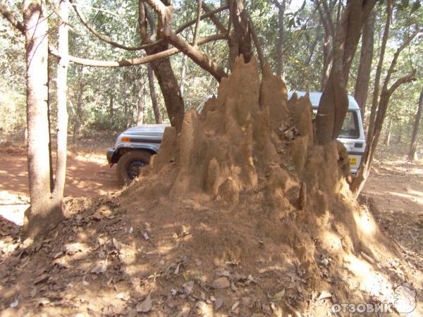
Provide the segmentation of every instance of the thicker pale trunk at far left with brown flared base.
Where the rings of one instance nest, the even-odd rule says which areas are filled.
[[[27,65],[28,178],[31,206],[25,211],[23,237],[33,240],[62,219],[61,204],[51,199],[47,109],[48,23],[42,1],[23,1]]]

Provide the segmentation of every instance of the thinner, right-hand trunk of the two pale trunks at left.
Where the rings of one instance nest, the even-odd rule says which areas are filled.
[[[68,0],[61,0],[59,13],[62,19],[68,20]],[[58,50],[61,58],[57,65],[56,94],[57,94],[57,154],[56,180],[54,181],[53,197],[56,204],[62,204],[66,181],[66,147],[68,144],[68,109],[67,81],[68,81],[68,25],[62,23],[58,29]]]

